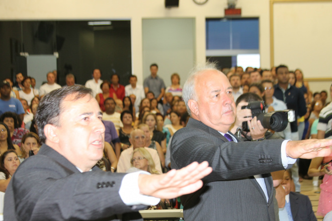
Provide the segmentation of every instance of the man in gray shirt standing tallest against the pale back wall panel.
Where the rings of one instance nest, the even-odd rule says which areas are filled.
[[[158,65],[151,64],[150,72],[151,72],[151,75],[144,79],[144,83],[143,83],[144,91],[145,91],[145,94],[148,91],[152,91],[154,93],[154,96],[157,98],[158,102],[160,102],[161,97],[163,97],[163,95],[165,93],[165,84],[163,82],[163,79],[161,79],[159,76],[157,76]]]

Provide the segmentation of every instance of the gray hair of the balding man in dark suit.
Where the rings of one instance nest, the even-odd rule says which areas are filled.
[[[219,71],[217,69],[216,63],[206,62],[205,64],[197,64],[189,72],[188,79],[186,80],[185,85],[183,86],[182,98],[186,103],[187,112],[190,116],[191,116],[191,111],[190,111],[190,108],[188,105],[188,100],[190,100],[190,99],[197,100],[196,91],[195,91],[196,77],[198,75],[204,73],[207,70]],[[220,72],[220,73],[222,73],[222,72]]]

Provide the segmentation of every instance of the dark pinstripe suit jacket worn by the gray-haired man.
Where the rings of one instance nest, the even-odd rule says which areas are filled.
[[[185,220],[275,220],[269,172],[285,169],[282,142],[228,142],[218,131],[190,119],[172,138],[171,167],[206,160],[213,171],[200,190],[181,197]],[[257,174],[265,177],[268,202],[253,177]]]

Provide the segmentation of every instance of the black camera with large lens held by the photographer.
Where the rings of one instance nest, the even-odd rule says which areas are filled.
[[[286,129],[288,122],[295,121],[295,111],[286,109],[284,111],[276,111],[265,113],[265,104],[262,101],[248,102],[248,105],[242,106],[242,109],[251,109],[252,116],[257,117],[266,129],[271,129],[276,132],[281,132]],[[242,130],[249,132],[248,123],[242,123]]]

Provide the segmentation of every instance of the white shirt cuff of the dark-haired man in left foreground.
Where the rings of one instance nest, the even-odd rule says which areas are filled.
[[[156,205],[159,198],[142,195],[139,193],[138,176],[139,174],[150,174],[145,171],[138,171],[126,174],[121,182],[119,194],[126,205]]]

